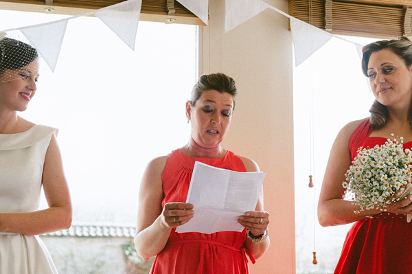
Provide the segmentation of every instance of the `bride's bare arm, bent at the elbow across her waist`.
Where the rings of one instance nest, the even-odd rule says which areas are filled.
[[[47,148],[42,183],[49,208],[29,213],[0,214],[0,231],[38,235],[70,227],[69,187],[54,135]]]

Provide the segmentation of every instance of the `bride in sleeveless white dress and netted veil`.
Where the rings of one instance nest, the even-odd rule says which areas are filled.
[[[39,234],[71,225],[56,128],[17,115],[36,93],[36,49],[0,38],[0,273],[55,274]],[[41,187],[49,207],[38,210]]]

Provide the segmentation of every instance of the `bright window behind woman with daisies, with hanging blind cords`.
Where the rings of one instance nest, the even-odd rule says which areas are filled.
[[[379,40],[341,37],[361,45]],[[317,203],[323,174],[339,130],[368,117],[374,95],[361,71],[355,45],[337,38],[295,67],[293,78],[296,273],[333,273],[351,225],[319,225]],[[308,187],[309,175],[313,175],[314,188]],[[312,264],[313,251],[317,251],[317,265]]]

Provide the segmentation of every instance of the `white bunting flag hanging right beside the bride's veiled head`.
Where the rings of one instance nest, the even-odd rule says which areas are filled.
[[[58,56],[65,37],[67,20],[54,21],[30,27],[21,27],[27,41],[32,44],[41,55],[49,68],[54,72],[56,69]]]

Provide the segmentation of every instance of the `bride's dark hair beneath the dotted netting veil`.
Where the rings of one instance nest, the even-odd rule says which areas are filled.
[[[25,67],[37,57],[37,50],[31,45],[5,37],[0,40],[0,75],[5,69]]]

